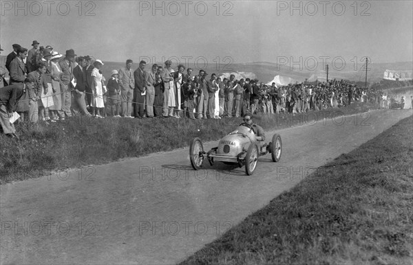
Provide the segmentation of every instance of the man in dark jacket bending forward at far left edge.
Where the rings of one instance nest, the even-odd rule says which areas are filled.
[[[33,82],[31,78],[25,78],[21,83],[10,84],[10,86],[0,89],[0,126],[3,133],[8,137],[19,139],[14,124],[10,124],[10,118],[13,117],[17,102],[25,93],[25,90],[32,89]]]

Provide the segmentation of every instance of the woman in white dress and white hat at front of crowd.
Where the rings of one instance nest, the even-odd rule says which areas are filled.
[[[100,73],[100,68],[103,62],[96,60],[94,62],[94,69],[92,70],[92,115],[98,118],[103,118],[100,115],[100,110],[105,108],[105,102],[103,102],[103,94],[106,93],[106,88],[102,84],[103,75]]]

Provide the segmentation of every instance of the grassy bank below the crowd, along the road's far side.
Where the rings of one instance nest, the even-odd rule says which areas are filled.
[[[352,104],[299,115],[268,115],[256,122],[265,130],[286,128],[375,108]],[[293,119],[294,117],[294,119]],[[220,139],[242,119],[94,119],[74,117],[65,122],[18,124],[20,141],[0,135],[0,184],[36,178],[53,171],[81,168],[152,152],[188,146],[190,139]]]

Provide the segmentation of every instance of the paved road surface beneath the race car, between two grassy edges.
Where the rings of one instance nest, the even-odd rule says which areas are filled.
[[[314,168],[409,115],[371,111],[278,130],[282,160],[261,157],[253,176],[223,165],[195,172],[185,148],[2,185],[0,263],[179,262]]]

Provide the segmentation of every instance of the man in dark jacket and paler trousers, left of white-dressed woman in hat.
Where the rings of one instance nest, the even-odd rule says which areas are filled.
[[[85,67],[87,66],[87,60],[85,57],[81,57],[78,60],[78,65],[73,69],[73,76],[76,80],[76,87],[74,87],[73,97],[74,101],[72,104],[72,109],[74,112],[78,111],[82,115],[92,116],[86,108],[85,101],[85,91],[86,91],[86,71]]]

